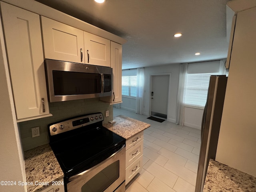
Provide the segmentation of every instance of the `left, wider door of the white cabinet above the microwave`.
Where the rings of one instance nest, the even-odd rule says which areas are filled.
[[[47,59],[84,63],[83,31],[41,16],[44,57]]]

